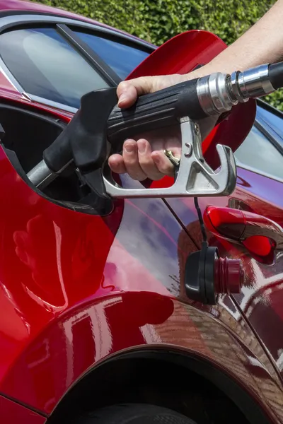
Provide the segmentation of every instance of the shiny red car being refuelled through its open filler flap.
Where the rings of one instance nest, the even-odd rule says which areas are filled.
[[[185,292],[202,242],[191,197],[120,200],[103,214],[82,206],[76,175],[44,191],[25,178],[83,94],[190,71],[225,48],[204,32],[180,37],[155,51],[72,13],[0,0],[3,424],[283,423],[280,112],[258,102],[255,116],[248,102],[218,127],[236,150],[237,186],[200,208],[209,245],[241,259],[245,278],[216,305]],[[231,216],[251,237],[235,235]]]

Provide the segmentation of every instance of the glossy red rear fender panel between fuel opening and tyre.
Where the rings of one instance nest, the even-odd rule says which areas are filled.
[[[121,202],[108,218],[88,216],[33,192],[3,151],[0,170],[2,393],[51,413],[96,363],[160,344],[200,355],[233,379],[241,372],[267,408],[271,387],[279,399],[276,373],[241,314],[233,317],[229,298],[225,307],[182,303],[185,257],[196,247],[161,199]]]

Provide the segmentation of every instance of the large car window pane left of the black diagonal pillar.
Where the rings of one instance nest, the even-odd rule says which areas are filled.
[[[0,36],[0,54],[26,93],[78,108],[83,94],[108,84],[53,28]]]

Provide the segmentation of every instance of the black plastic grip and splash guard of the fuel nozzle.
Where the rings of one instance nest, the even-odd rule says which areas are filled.
[[[107,159],[107,140],[112,146],[111,153],[119,153],[129,137],[178,124],[181,117],[206,117],[197,97],[197,81],[185,81],[142,95],[135,105],[125,110],[116,105],[116,88],[103,88],[83,95],[81,107],[71,122],[45,149],[43,158],[47,167],[60,173],[74,162],[82,172],[91,172],[103,167]]]

